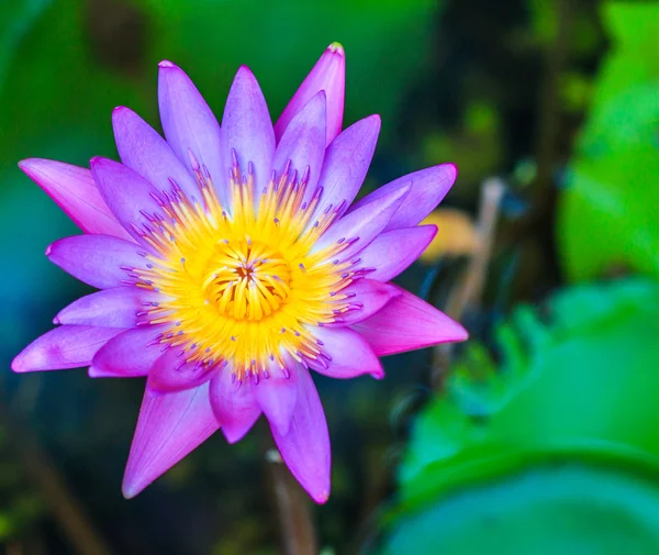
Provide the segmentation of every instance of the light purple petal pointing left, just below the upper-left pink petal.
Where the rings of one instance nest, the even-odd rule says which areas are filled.
[[[71,276],[99,289],[124,285],[132,268],[143,267],[136,243],[110,235],[75,235],[46,248],[46,256]],[[124,269],[122,269],[122,267]]]

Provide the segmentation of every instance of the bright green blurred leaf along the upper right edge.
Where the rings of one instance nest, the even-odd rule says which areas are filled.
[[[659,3],[610,2],[613,48],[596,79],[558,214],[569,277],[659,276]]]

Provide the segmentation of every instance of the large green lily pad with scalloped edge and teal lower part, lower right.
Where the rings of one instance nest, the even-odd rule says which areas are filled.
[[[632,536],[625,553],[656,553],[659,492],[641,481],[659,469],[657,334],[659,285],[640,279],[517,309],[496,331],[501,363],[472,345],[418,417],[382,553],[617,553],[601,546]]]

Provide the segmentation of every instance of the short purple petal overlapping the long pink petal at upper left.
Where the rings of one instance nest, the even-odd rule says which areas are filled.
[[[163,215],[158,190],[127,166],[97,156],[90,162],[91,173],[105,203],[116,220],[137,241],[142,241],[147,217]]]

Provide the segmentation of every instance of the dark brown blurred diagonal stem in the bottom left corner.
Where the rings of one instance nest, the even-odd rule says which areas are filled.
[[[0,403],[0,420],[7,426],[11,451],[27,478],[36,485],[51,514],[77,555],[112,555],[64,477],[57,471],[36,437]]]

